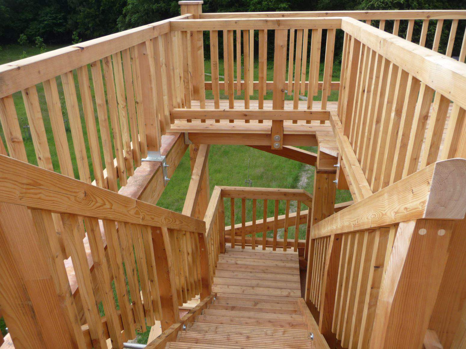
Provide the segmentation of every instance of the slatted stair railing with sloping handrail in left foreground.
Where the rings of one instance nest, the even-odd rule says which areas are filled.
[[[201,273],[208,252],[197,243],[206,232],[204,221],[4,155],[0,169],[0,254],[7,266],[0,276],[0,303],[15,345],[106,347],[110,337],[121,348],[156,319],[162,329],[178,322],[178,305],[210,287],[204,285],[209,275]],[[78,282],[75,295],[53,215],[63,224],[61,238]]]

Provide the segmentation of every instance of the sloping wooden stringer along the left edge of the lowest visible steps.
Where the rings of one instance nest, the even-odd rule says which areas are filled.
[[[198,305],[192,308],[186,315],[184,315],[179,322],[174,323],[164,332],[162,332],[154,341],[148,342],[147,349],[164,349],[168,342],[176,342],[178,332],[183,330],[183,325],[188,325],[196,320],[196,317],[201,315],[202,311],[206,309],[213,301],[217,294],[204,298]]]

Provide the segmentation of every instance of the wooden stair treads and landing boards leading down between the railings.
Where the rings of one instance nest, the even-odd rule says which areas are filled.
[[[166,348],[328,348],[301,298],[296,252],[226,248],[212,292]]]

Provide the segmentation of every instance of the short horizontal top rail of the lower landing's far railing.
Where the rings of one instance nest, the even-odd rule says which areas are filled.
[[[222,197],[235,199],[264,199],[264,200],[298,200],[312,201],[312,196],[303,189],[281,188],[248,188],[248,187],[220,187]]]

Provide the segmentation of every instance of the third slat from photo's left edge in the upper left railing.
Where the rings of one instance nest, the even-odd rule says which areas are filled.
[[[44,94],[47,101],[48,116],[54,134],[55,148],[62,175],[74,178],[73,164],[69,153],[68,138],[63,123],[62,107],[55,78],[44,81]],[[5,129],[4,129],[5,130]]]

